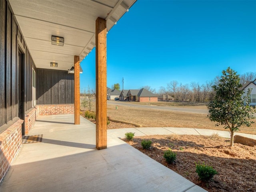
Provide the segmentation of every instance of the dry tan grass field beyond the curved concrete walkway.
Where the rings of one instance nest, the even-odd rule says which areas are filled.
[[[136,102],[136,104],[139,104],[139,102]],[[178,107],[178,103],[176,104],[176,107]],[[118,107],[117,110],[116,106]],[[200,107],[206,109],[205,105],[189,107]],[[140,124],[142,125],[142,127],[187,127],[224,130],[222,126],[215,126],[215,123],[211,122],[208,119],[207,114],[118,106],[118,103],[116,105],[108,105],[108,116],[110,116],[113,119],[124,120]],[[254,119],[254,122],[256,122],[256,119]],[[256,134],[256,123],[252,124],[252,126],[250,127],[241,127],[240,132]]]

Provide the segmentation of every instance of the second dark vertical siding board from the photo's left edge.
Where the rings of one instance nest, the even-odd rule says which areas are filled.
[[[12,120],[12,13],[7,9],[6,20],[6,122]]]

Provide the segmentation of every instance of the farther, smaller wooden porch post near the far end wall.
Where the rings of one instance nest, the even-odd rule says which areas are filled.
[[[79,56],[74,56],[74,102],[75,125],[80,124],[80,62]]]

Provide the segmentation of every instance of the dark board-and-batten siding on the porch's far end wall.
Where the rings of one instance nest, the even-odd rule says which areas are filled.
[[[74,75],[67,71],[36,70],[36,104],[73,104]]]

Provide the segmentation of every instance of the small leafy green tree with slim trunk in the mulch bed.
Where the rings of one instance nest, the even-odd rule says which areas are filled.
[[[240,126],[250,126],[253,122],[255,110],[249,106],[251,90],[241,90],[239,75],[230,67],[222,71],[222,77],[218,85],[212,86],[216,95],[207,105],[211,121],[217,122],[216,126],[223,125],[230,130],[230,146],[234,146],[234,132],[239,131]]]

